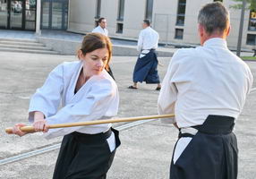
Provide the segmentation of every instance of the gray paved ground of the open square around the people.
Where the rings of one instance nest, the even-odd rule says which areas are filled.
[[[47,141],[39,133],[24,137],[7,135],[4,128],[27,121],[30,96],[42,85],[55,65],[76,60],[75,56],[0,53],[0,159],[40,149],[61,141]],[[163,79],[170,58],[159,58]],[[120,91],[118,117],[157,114],[158,91],[155,85],[141,84],[140,90],[128,90],[136,57],[114,56],[111,64]],[[247,62],[256,78],[256,63]],[[239,179],[256,178],[256,91],[249,96],[243,114],[235,125],[240,149]],[[120,125],[120,124],[115,124]],[[122,146],[117,150],[109,179],[165,179],[175,145],[177,131],[159,121],[141,124],[120,132]],[[0,166],[0,178],[48,179],[52,177],[58,149],[37,157]]]

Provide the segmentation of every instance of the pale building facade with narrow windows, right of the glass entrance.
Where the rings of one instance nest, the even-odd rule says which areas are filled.
[[[113,38],[137,39],[141,22],[149,19],[166,44],[199,44],[197,15],[203,4],[213,0],[69,0],[68,31],[87,33],[99,17],[107,19],[107,30]],[[233,0],[223,0],[230,11],[232,30],[227,39],[236,47],[241,10],[231,8]],[[256,13],[246,10],[243,21],[242,47],[256,45]]]

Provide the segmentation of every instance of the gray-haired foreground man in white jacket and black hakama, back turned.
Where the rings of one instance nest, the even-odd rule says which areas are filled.
[[[221,3],[206,4],[198,15],[201,47],[173,56],[158,97],[158,113],[175,112],[179,129],[170,179],[236,179],[237,141],[232,132],[252,73],[228,50],[229,13]]]

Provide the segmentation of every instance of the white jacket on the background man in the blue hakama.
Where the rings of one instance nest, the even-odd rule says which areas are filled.
[[[159,39],[159,35],[156,30],[153,30],[150,27],[141,30],[139,39],[138,39],[137,50],[141,52],[142,50],[149,51],[149,49],[151,48],[157,49],[158,39]]]

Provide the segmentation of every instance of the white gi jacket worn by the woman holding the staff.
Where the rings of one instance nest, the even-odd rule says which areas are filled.
[[[94,75],[74,94],[81,72],[81,61],[59,64],[49,73],[47,81],[30,99],[29,121],[34,121],[34,111],[46,116],[47,124],[65,124],[110,118],[117,114],[119,95],[112,77],[104,70]],[[58,111],[60,102],[62,108]],[[71,132],[107,132],[111,124],[98,124],[72,128],[50,129],[47,139]]]

